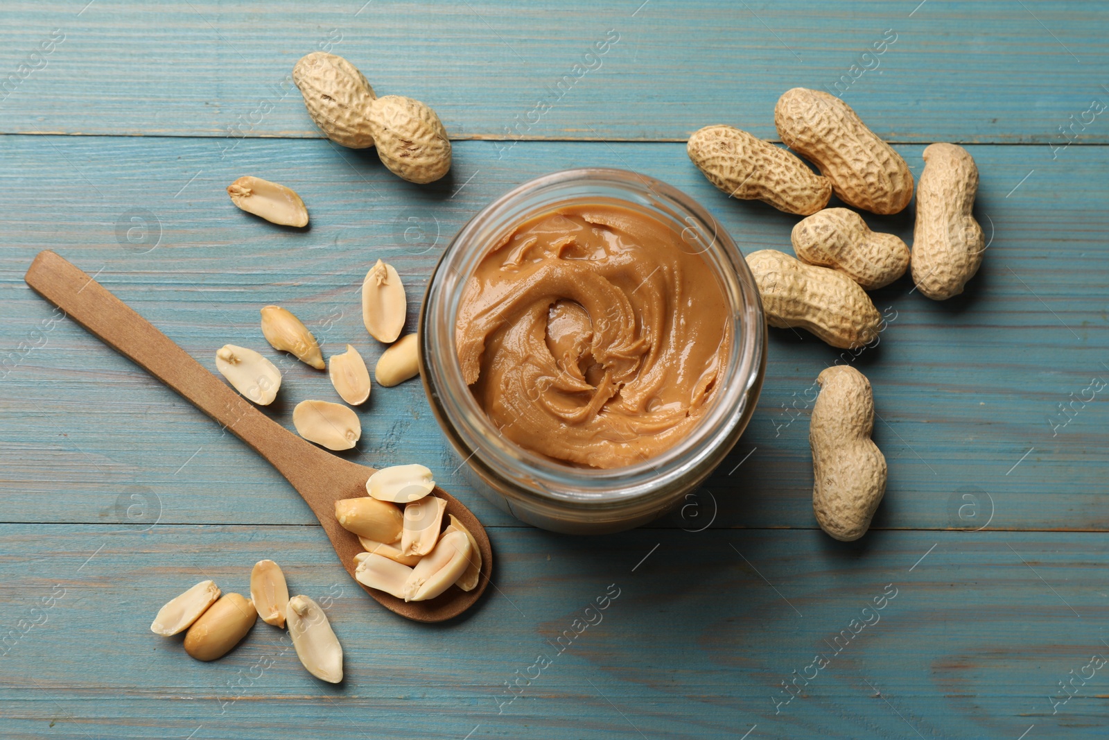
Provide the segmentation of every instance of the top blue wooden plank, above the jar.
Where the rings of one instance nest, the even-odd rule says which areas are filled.
[[[1101,2],[74,4],[6,3],[0,131],[318,136],[288,74],[326,48],[459,139],[776,136],[774,101],[802,85],[899,142],[1109,142]]]

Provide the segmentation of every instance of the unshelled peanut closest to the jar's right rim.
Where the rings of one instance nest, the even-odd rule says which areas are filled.
[[[882,315],[845,274],[806,265],[777,250],[752,252],[746,261],[771,326],[804,328],[841,348],[862,347],[877,338]]]

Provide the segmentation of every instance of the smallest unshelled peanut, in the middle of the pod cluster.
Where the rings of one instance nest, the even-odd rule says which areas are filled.
[[[802,219],[790,240],[802,262],[837,270],[867,291],[888,285],[908,270],[905,242],[871,231],[863,216],[848,209],[824,209]]]

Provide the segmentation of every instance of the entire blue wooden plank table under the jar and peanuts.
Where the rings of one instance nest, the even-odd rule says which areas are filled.
[[[0,737],[1106,737],[1106,3],[85,3],[0,9]],[[289,78],[317,49],[433,105],[450,175],[411,185],[321,139]],[[57,250],[213,369],[218,346],[260,346],[268,303],[325,354],[376,359],[367,266],[399,270],[411,324],[460,225],[554,170],[660,178],[744,251],[788,250],[795,217],[729,200],[683,142],[711,123],[775,139],[796,85],[842,94],[917,176],[928,143],[965,144],[991,240],[957,298],[877,291],[881,344],[841,358],[873,382],[889,462],[854,544],[812,515],[813,382],[840,353],[808,335],[771,332],[759,408],[704,489],[618,536],[495,509],[408,383],[359,409],[354,459],[430,465],[497,554],[472,614],[411,624],[349,580],[265,463],[22,281]],[[243,174],[295,187],[311,230],[234,209]],[[910,211],[868,219],[912,236]],[[332,391],[276,359],[267,413],[292,427],[295,399]],[[245,591],[262,558],[327,606],[342,686],[261,622],[214,663],[147,629],[203,578]]]

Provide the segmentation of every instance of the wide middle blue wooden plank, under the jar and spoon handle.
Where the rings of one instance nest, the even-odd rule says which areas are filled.
[[[368,265],[381,256],[398,267],[413,327],[427,275],[451,235],[529,178],[583,164],[630,168],[704,203],[744,251],[788,250],[794,216],[730,201],[681,144],[523,146],[506,163],[491,143],[464,142],[454,180],[419,189],[323,142],[250,141],[220,161],[204,140],[0,138],[9,163],[0,175],[0,212],[9,220],[0,253],[0,362],[10,367],[0,405],[4,418],[20,420],[0,425],[9,496],[0,517],[112,523],[130,510],[147,523],[312,521],[277,474],[211,420],[80,327],[51,323],[50,307],[22,282],[40,249],[99,271],[109,290],[210,368],[227,342],[266,349],[285,371],[284,402],[268,413],[287,427],[297,401],[330,398],[333,391],[324,374],[268,351],[258,308],[282,303],[315,331],[325,354],[349,341],[373,362],[380,348],[358,308]],[[917,172],[920,150],[902,148]],[[876,292],[888,328],[854,361],[873,381],[875,437],[891,467],[876,526],[977,528],[989,520],[1003,529],[1105,530],[1109,407],[1103,393],[1075,402],[1071,416],[1059,405],[1071,394],[1088,399],[1091,378],[1109,378],[1109,149],[1083,148],[1058,162],[1030,158],[1027,148],[971,151],[981,170],[978,215],[995,232],[981,273],[946,303],[923,298],[907,278]],[[295,186],[312,229],[291,233],[237,211],[223,187],[247,172]],[[151,251],[151,241],[118,241],[118,224],[125,231],[135,209],[155,224]],[[871,221],[912,236],[910,215]],[[42,326],[50,328],[37,331]],[[688,520],[665,526],[698,528],[712,511],[714,526],[814,526],[811,388],[821,369],[843,358],[785,330],[771,332],[769,357],[759,409],[709,480],[712,497],[688,508]],[[482,521],[513,521],[458,469],[418,384],[377,388],[359,413],[364,435],[352,459],[425,462]]]

